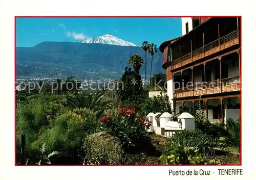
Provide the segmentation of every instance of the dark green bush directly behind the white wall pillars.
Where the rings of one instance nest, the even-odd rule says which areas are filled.
[[[139,114],[141,116],[146,116],[148,113],[173,113],[169,97],[167,94],[154,96],[152,98],[147,98],[142,104]]]

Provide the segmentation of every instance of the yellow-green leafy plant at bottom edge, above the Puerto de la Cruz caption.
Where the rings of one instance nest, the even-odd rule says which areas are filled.
[[[205,156],[200,153],[193,146],[185,146],[177,141],[171,140],[171,144],[162,153],[159,159],[160,164],[219,164],[219,161],[214,159],[207,160]]]

